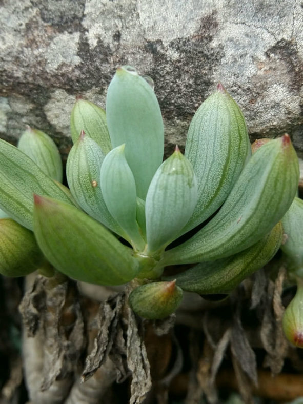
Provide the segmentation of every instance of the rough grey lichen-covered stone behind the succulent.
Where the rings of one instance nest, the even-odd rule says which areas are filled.
[[[285,131],[303,154],[303,3],[0,0],[0,135],[29,124],[66,155],[75,95],[104,106],[119,64],[155,81],[167,151],[220,80],[252,140]]]

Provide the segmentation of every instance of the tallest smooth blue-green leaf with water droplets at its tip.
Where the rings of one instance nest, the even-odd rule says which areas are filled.
[[[145,200],[150,181],[163,160],[164,128],[151,86],[133,68],[117,69],[107,92],[106,117],[112,145],[125,143],[137,196]]]

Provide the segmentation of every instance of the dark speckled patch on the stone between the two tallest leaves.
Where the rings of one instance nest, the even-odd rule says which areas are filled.
[[[160,39],[147,41],[145,51],[151,53],[154,60],[154,66],[147,74],[156,83],[159,104],[166,118],[182,116],[187,119],[206,98],[213,85],[213,69],[224,55],[223,47],[210,45],[217,29],[216,12],[212,12],[201,19],[196,34],[174,39],[169,47],[164,46]],[[175,60],[169,59],[171,51],[178,55]]]

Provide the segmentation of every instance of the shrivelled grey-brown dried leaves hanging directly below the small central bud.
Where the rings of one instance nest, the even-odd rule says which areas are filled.
[[[118,382],[132,376],[130,403],[143,402],[151,388],[150,366],[137,319],[128,306],[127,295],[117,294],[103,302],[96,322],[100,331],[86,359],[83,378],[92,376],[110,358],[116,367]]]

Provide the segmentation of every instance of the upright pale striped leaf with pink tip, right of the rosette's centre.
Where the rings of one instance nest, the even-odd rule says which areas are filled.
[[[197,182],[178,147],[156,171],[146,196],[147,253],[163,249],[178,237],[197,203]]]

